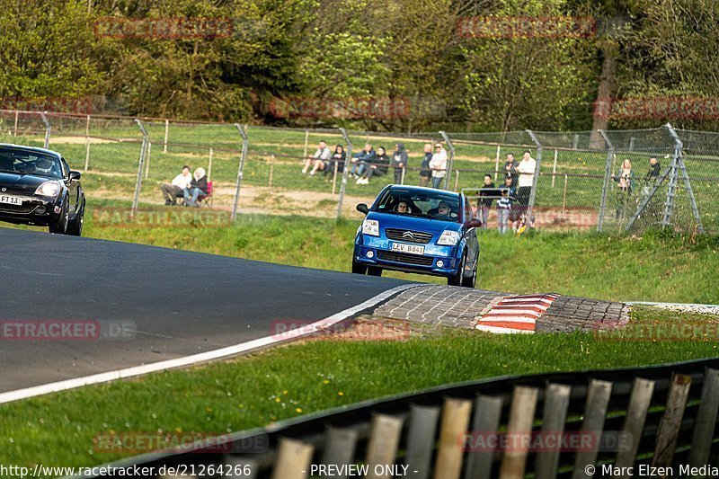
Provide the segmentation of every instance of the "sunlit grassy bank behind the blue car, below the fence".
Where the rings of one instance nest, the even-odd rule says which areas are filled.
[[[159,208],[159,211],[167,211]],[[210,213],[202,212],[202,215]],[[359,222],[309,217],[244,215],[233,226],[226,217],[206,221],[183,217],[181,225],[145,222],[141,227],[89,215],[85,235],[154,244],[253,260],[350,271]],[[215,226],[207,227],[208,224]],[[157,226],[157,227],[147,227]],[[556,292],[611,300],[719,303],[719,238],[645,235],[537,233],[480,235],[478,288],[517,293]],[[443,282],[401,273],[398,278]]]

